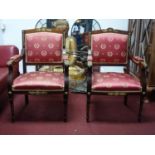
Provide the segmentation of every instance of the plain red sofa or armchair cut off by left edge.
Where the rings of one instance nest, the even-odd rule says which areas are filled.
[[[8,67],[7,62],[13,59],[15,55],[19,54],[19,50],[14,45],[0,46],[0,93],[2,93],[8,86]],[[19,74],[18,64],[14,68],[14,77]]]

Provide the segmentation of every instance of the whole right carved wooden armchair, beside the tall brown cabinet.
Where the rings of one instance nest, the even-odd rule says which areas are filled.
[[[87,73],[87,122],[92,94],[123,95],[125,105],[128,95],[139,95],[138,121],[141,121],[146,91],[145,63],[142,58],[129,54],[129,41],[128,32],[112,28],[91,36],[91,56],[88,56]],[[130,60],[139,67],[139,77],[131,74]],[[93,66],[122,66],[124,72],[94,72]]]

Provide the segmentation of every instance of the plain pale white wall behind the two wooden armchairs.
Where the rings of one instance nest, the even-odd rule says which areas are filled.
[[[24,29],[31,29],[35,27],[38,19],[3,19],[0,20],[0,24],[4,24],[5,31],[0,30],[0,44],[5,45],[16,45],[21,51],[22,48],[22,33]],[[76,19],[69,19],[70,30]],[[115,29],[127,30],[128,20],[127,19],[97,19],[100,23],[101,28],[105,29],[113,27]],[[69,31],[70,35],[70,31]],[[34,67],[29,68],[29,71],[33,71]],[[22,65],[20,64],[20,72],[22,72]]]

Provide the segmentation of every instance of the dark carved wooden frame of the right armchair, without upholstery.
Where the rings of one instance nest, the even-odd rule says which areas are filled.
[[[115,30],[113,28],[108,28],[106,30],[103,30],[101,33],[119,33],[119,34],[127,34],[128,35],[128,47],[127,47],[127,53],[128,53],[128,62],[127,64],[105,64],[105,63],[93,63],[92,56],[88,56],[87,61],[87,103],[86,103],[86,121],[90,121],[90,101],[91,101],[91,95],[113,95],[113,96],[124,96],[124,105],[127,106],[127,99],[129,95],[139,95],[140,96],[140,106],[139,106],[139,112],[138,112],[138,122],[141,122],[141,116],[142,116],[142,109],[144,104],[144,97],[146,94],[146,63],[144,59],[133,56],[130,54],[130,47],[129,42],[130,40],[130,32],[128,31],[122,31],[122,30]],[[89,53],[91,53],[90,51]],[[134,76],[140,79],[140,83],[142,86],[142,91],[95,91],[92,90],[92,70],[93,66],[122,66],[124,67],[124,72],[130,74],[130,61],[133,62],[135,65],[139,67],[139,72]],[[133,74],[133,73],[132,73]],[[139,77],[138,77],[139,76]]]

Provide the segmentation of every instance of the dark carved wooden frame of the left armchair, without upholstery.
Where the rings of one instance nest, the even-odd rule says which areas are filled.
[[[29,29],[29,30],[23,30],[22,31],[22,51],[20,55],[15,56],[14,58],[10,59],[7,63],[8,69],[9,69],[9,76],[8,76],[8,96],[9,96],[9,103],[11,106],[11,115],[12,115],[12,122],[15,121],[15,112],[14,112],[14,102],[13,97],[14,94],[25,94],[25,105],[28,105],[29,103],[29,97],[28,95],[46,95],[46,94],[54,94],[54,93],[61,93],[64,94],[64,121],[67,121],[67,103],[68,103],[68,91],[69,91],[69,81],[68,81],[68,67],[69,62],[67,59],[67,56],[63,57],[63,51],[62,51],[62,62],[58,63],[27,63],[26,57],[25,57],[25,35],[28,33],[37,33],[37,32],[51,32],[53,31],[51,29],[41,28],[41,29]],[[63,49],[62,49],[63,50]],[[27,72],[27,66],[31,65],[62,65],[63,72],[64,72],[64,89],[60,90],[14,90],[12,88],[13,84],[13,67],[15,64],[19,63],[21,60],[23,60],[23,74]]]

